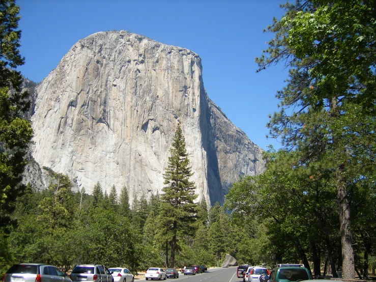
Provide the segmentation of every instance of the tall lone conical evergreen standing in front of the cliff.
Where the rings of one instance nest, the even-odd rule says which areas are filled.
[[[166,250],[167,243],[170,243],[169,267],[173,267],[179,236],[194,234],[197,212],[197,205],[193,203],[197,195],[194,193],[194,183],[189,181],[192,173],[180,125],[173,137],[170,154],[163,175],[164,184],[167,186],[162,189],[164,194],[161,195],[159,222],[160,235],[166,242]]]

